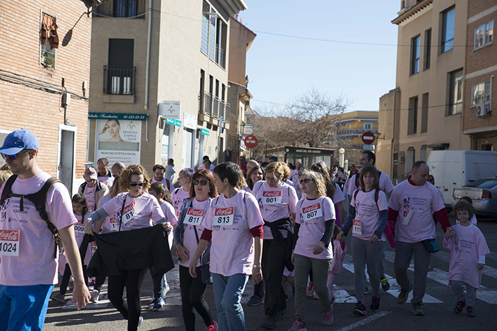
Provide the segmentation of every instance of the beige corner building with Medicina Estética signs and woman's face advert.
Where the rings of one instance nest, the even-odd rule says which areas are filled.
[[[224,161],[230,17],[246,8],[243,0],[95,8],[88,160],[141,163],[149,174],[167,159],[177,172],[196,169],[204,155]]]

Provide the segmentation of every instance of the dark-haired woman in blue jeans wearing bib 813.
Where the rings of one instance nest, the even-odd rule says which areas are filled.
[[[210,202],[202,221],[204,232],[191,258],[189,272],[193,278],[199,276],[198,259],[212,239],[210,272],[220,330],[244,331],[245,315],[240,300],[245,284],[250,274],[254,284],[263,279],[263,219],[254,196],[240,190],[245,180],[237,164],[217,165],[214,183],[220,195]]]

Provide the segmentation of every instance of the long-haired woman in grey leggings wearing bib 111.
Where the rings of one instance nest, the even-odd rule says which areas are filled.
[[[356,291],[356,306],[352,313],[366,315],[364,302],[365,276],[364,269],[367,263],[367,274],[371,283],[373,296],[371,299],[372,311],[380,310],[380,274],[378,263],[385,248],[385,241],[380,239],[387,226],[387,196],[380,190],[378,171],[367,165],[361,170],[359,181],[361,188],[352,193],[349,215],[337,239],[341,241],[352,228],[352,262],[354,263],[354,288]]]

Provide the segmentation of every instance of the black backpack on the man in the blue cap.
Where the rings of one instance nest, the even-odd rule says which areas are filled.
[[[53,257],[57,257],[57,251],[62,247],[62,242],[60,241],[59,237],[59,232],[56,228],[55,225],[53,225],[52,222],[50,222],[47,211],[45,210],[45,202],[47,200],[47,193],[49,189],[53,186],[55,183],[62,183],[58,178],[51,177],[49,178],[43,187],[40,189],[40,191],[32,194],[14,194],[12,193],[12,184],[14,184],[14,181],[16,181],[17,175],[14,174],[8,178],[8,180],[5,182],[5,186],[3,187],[2,195],[1,195],[1,200],[0,200],[0,206],[3,205],[3,202],[7,200],[8,198],[21,198],[21,203],[19,204],[19,209],[20,211],[24,211],[24,198],[27,198],[27,200],[33,202],[34,207],[40,213],[40,217],[47,222],[47,226],[51,233],[53,234],[53,239],[56,241],[56,246],[55,250],[53,252]]]

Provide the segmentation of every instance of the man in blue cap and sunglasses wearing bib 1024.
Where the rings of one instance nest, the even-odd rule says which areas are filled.
[[[27,194],[36,194],[51,178],[38,167],[40,144],[34,133],[19,129],[5,137],[1,157],[16,175],[0,189],[0,330],[42,330],[54,284],[58,254],[51,230]],[[5,190],[5,192],[3,192]],[[74,278],[78,310],[88,303],[80,254],[74,236],[77,221],[71,196],[62,183],[47,191],[45,211],[58,233]],[[6,249],[4,249],[6,248]]]

